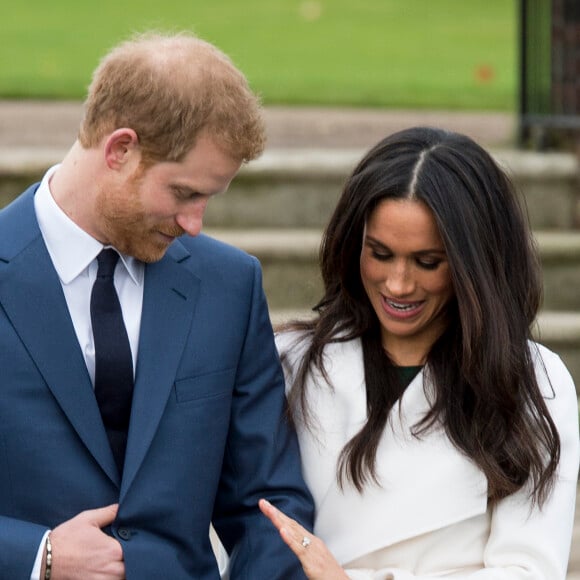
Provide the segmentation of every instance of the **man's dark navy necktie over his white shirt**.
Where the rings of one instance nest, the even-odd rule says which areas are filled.
[[[91,293],[95,340],[95,396],[119,473],[123,472],[133,397],[133,359],[121,304],[113,284],[119,254],[102,250]]]

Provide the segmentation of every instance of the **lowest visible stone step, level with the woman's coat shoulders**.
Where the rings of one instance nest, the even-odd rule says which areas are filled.
[[[307,309],[271,308],[270,313],[275,327],[289,320],[308,320],[312,316],[314,314]],[[533,336],[562,358],[574,379],[576,393],[580,398],[580,312],[540,312]]]

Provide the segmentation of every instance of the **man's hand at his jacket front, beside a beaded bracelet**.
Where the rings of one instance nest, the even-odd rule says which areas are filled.
[[[113,522],[117,504],[81,512],[50,533],[52,580],[123,580],[121,544],[101,528]],[[40,577],[44,578],[45,562]]]

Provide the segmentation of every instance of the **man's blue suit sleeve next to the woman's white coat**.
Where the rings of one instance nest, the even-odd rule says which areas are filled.
[[[266,498],[312,529],[313,503],[285,411],[284,377],[261,269],[253,259],[251,306],[213,517],[230,555],[231,578],[304,578],[297,558],[258,508]]]

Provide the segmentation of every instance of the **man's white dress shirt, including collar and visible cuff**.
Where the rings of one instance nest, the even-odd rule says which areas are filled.
[[[40,231],[56,269],[91,381],[95,382],[95,345],[91,324],[91,290],[97,277],[97,256],[106,247],[77,226],[57,205],[50,192],[50,178],[58,165],[44,175],[34,196],[34,209]],[[131,256],[120,254],[115,269],[115,288],[119,295],[127,328],[133,372],[137,362],[145,265]],[[31,580],[39,580],[46,535],[32,570]]]

